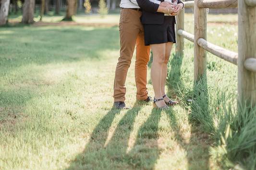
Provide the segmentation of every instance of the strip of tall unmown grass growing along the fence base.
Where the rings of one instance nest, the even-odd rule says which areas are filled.
[[[236,70],[215,60],[207,61],[207,78],[194,83],[193,57],[173,55],[167,82],[169,94],[177,95],[189,111],[190,123],[208,134],[212,142],[210,155],[223,169],[255,170],[256,107],[243,104],[237,111]]]

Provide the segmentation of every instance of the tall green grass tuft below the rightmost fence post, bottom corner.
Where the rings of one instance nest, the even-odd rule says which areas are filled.
[[[216,129],[216,146],[212,156],[225,168],[241,164],[244,169],[256,169],[256,107],[239,105],[239,110],[229,104],[219,112]]]

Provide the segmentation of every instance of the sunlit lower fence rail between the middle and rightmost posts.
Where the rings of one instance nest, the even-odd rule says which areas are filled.
[[[237,65],[237,57],[238,54],[235,52],[232,52],[230,50],[224,49],[218,45],[214,45],[212,43],[207,42],[206,40],[199,38],[197,40],[197,44],[210,52],[211,54],[214,54],[215,56],[222,58],[234,65]]]

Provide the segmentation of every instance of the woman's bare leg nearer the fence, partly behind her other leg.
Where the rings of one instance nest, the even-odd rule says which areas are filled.
[[[167,78],[167,74],[168,74],[168,61],[171,55],[171,48],[172,48],[173,43],[168,42],[166,43],[166,47],[165,47],[165,57],[164,57],[164,62],[162,65],[162,78],[161,78],[161,92],[162,92],[162,96],[165,95],[165,85],[166,85],[166,78]],[[170,101],[170,99],[168,97],[164,98],[165,102]]]

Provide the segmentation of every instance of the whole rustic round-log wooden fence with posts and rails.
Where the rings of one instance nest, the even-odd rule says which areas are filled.
[[[177,16],[176,53],[183,55],[184,38],[194,42],[194,81],[206,77],[206,51],[238,66],[238,102],[256,105],[256,0],[194,0],[194,35],[184,31],[184,10]],[[238,6],[238,54],[207,42],[207,8]]]

